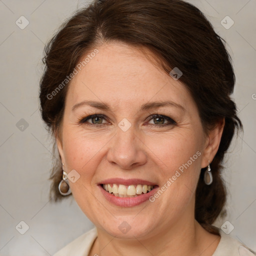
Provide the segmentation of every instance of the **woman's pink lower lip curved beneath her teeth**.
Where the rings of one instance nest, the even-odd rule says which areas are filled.
[[[102,194],[105,196],[105,198],[109,202],[122,207],[132,207],[132,206],[139,205],[140,203],[146,200],[149,201],[149,197],[155,193],[155,189],[158,187],[156,186],[150,192],[145,194],[142,193],[135,197],[119,197],[119,196],[115,196],[113,194],[108,193],[101,185],[98,185],[98,186]]]

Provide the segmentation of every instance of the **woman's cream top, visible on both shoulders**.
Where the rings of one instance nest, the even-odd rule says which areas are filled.
[[[251,250],[231,236],[219,230],[221,236],[218,246],[212,256],[255,256]],[[53,256],[88,256],[90,248],[97,237],[96,227],[80,235]]]

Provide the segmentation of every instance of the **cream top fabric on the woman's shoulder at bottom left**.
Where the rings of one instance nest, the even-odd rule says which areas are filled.
[[[62,249],[57,251],[53,256],[87,256],[90,247],[96,237],[97,229],[94,227],[68,243]]]

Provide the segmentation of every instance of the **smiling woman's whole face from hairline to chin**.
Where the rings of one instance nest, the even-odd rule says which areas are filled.
[[[194,219],[208,139],[184,85],[138,49],[98,48],[69,84],[57,143],[69,179],[79,177],[73,197],[100,230],[150,237]]]

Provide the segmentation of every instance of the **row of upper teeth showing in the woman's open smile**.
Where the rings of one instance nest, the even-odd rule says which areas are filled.
[[[123,184],[100,184],[110,194],[118,197],[136,197],[150,192],[157,185],[123,185]]]

